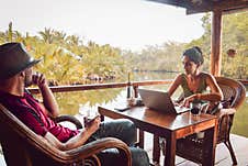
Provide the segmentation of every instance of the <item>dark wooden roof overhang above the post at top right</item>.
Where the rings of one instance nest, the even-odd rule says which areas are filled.
[[[222,11],[224,13],[248,10],[248,0],[148,0],[187,9],[187,14]]]

